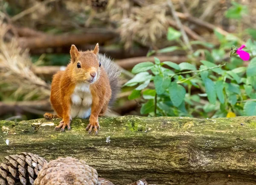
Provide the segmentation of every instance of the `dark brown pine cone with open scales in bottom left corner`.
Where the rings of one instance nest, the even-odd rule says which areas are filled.
[[[47,161],[32,153],[4,157],[0,164],[0,185],[34,185],[34,180]]]

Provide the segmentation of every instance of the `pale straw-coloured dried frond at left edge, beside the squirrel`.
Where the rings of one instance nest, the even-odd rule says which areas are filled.
[[[16,98],[23,95],[24,100],[49,97],[50,86],[32,72],[28,51],[23,51],[14,37],[6,41],[6,35],[9,28],[0,20],[0,84],[7,85],[0,92],[12,91]]]

